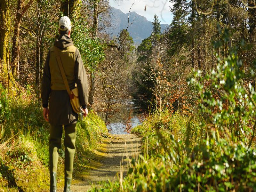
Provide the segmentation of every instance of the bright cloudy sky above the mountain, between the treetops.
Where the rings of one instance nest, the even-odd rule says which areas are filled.
[[[153,21],[154,14],[158,16],[160,23],[169,25],[172,21],[172,13],[169,8],[171,3],[169,0],[109,0],[109,5],[120,9],[124,13],[128,13],[132,7],[131,12],[134,11],[146,17],[148,21]]]

